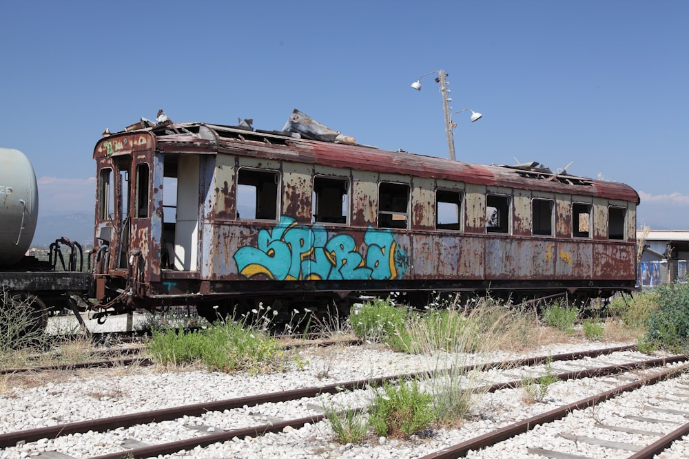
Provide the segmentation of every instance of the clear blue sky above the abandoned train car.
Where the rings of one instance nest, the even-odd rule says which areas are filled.
[[[0,146],[41,213],[92,213],[93,147],[164,109],[281,129],[298,108],[384,149],[538,161],[625,182],[639,225],[689,229],[689,2],[0,0]]]

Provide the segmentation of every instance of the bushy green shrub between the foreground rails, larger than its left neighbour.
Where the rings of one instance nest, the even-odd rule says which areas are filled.
[[[384,383],[369,409],[369,422],[378,436],[408,438],[426,429],[436,418],[433,396],[423,392],[418,381]]]

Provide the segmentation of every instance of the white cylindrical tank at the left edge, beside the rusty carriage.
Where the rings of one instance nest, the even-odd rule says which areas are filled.
[[[0,148],[0,267],[17,263],[36,231],[39,192],[29,159]]]

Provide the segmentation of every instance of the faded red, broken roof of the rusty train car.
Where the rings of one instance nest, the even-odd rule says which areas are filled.
[[[115,134],[104,132],[105,138],[96,145],[94,158],[103,154],[103,142],[116,136],[143,134],[142,131],[150,132],[155,137],[156,148],[165,154],[241,153],[256,158],[398,173],[486,186],[599,196],[639,204],[638,193],[627,184],[578,177],[566,172],[553,173],[537,162],[516,166],[472,164],[407,151],[387,151],[366,145],[312,140],[294,132],[259,131],[246,125],[169,121],[153,125],[142,118],[140,123],[127,127],[125,131]],[[353,141],[353,138],[343,139],[346,142]]]

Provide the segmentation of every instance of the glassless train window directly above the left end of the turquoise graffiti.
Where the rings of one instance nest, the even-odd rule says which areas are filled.
[[[278,220],[278,183],[276,171],[239,169],[237,173],[237,218],[241,220]]]

